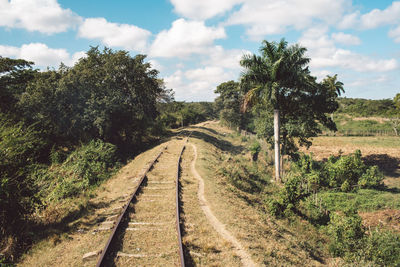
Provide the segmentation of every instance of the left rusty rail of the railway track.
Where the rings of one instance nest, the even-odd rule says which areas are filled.
[[[110,237],[107,240],[106,246],[104,247],[103,251],[101,252],[100,258],[97,261],[96,267],[100,267],[103,266],[104,264],[104,260],[105,260],[105,256],[108,252],[108,249],[110,247],[110,244],[112,243],[112,241],[115,238],[115,233],[117,232],[117,230],[120,227],[120,223],[122,221],[122,218],[125,216],[126,211],[128,210],[129,204],[133,201],[133,199],[136,197],[136,193],[139,191],[139,188],[142,186],[143,182],[146,179],[146,175],[147,173],[150,171],[150,169],[153,167],[154,163],[158,160],[158,158],[161,156],[161,154],[163,153],[163,151],[166,149],[167,147],[165,146],[160,153],[155,157],[155,159],[151,162],[151,164],[149,165],[149,167],[146,169],[146,171],[143,173],[142,177],[140,178],[139,181],[139,185],[136,187],[135,191],[132,193],[131,197],[129,198],[128,202],[123,206],[124,209],[121,213],[121,215],[118,217],[117,223],[114,225],[114,228],[111,232]]]

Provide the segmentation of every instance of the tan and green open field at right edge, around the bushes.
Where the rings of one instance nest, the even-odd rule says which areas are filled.
[[[359,209],[366,226],[383,226],[400,231],[400,138],[375,137],[327,137],[314,138],[313,145],[302,149],[313,153],[317,160],[330,155],[353,153],[361,150],[367,165],[378,165],[385,175],[385,190],[361,189],[354,193],[328,192],[321,194],[332,210],[343,210],[348,206]]]

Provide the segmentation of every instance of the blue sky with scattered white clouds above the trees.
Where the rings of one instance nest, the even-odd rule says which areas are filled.
[[[73,66],[90,46],[147,55],[178,101],[212,101],[262,40],[307,48],[346,97],[400,93],[400,1],[0,0],[0,56]]]

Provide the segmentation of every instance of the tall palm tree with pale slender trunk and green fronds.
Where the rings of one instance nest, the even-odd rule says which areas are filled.
[[[245,68],[241,77],[242,89],[246,92],[242,110],[256,103],[274,107],[275,179],[280,177],[280,106],[289,91],[312,84],[305,57],[306,48],[298,44],[288,46],[282,39],[279,43],[263,41],[261,56],[244,55],[240,65]]]

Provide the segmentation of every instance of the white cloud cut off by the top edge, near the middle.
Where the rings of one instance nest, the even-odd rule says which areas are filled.
[[[186,18],[204,20],[230,10],[243,0],[171,0],[174,11]]]

